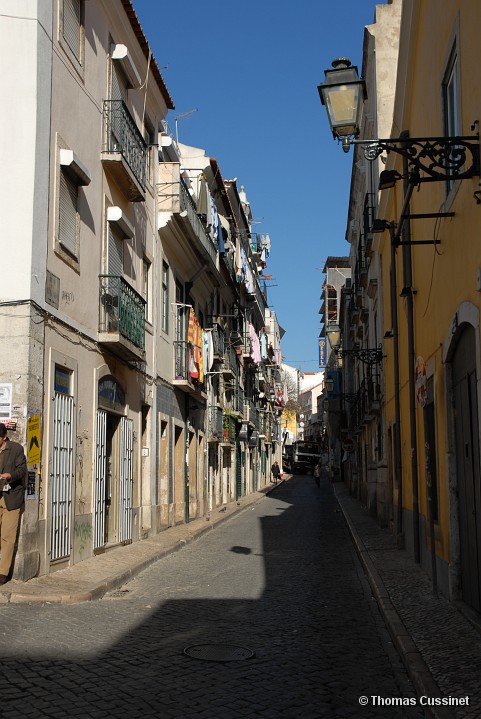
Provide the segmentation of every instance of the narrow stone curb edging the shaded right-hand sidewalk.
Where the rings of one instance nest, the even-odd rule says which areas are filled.
[[[362,539],[359,537],[354,524],[344,509],[342,501],[339,500],[334,487],[334,496],[341,508],[342,515],[349,529],[356,552],[366,572],[374,598],[384,619],[386,627],[391,635],[393,644],[396,647],[402,662],[414,684],[418,697],[442,697],[433,675],[431,674],[422,654],[417,649],[412,637],[404,626],[394,604],[391,601],[389,592],[377,571],[371,556],[366,549]],[[455,719],[455,714],[448,707],[425,707],[426,716],[433,719]]]

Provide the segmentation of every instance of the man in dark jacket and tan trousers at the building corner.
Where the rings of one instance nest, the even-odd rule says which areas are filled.
[[[11,442],[0,423],[0,584],[8,581],[25,502],[27,460],[23,447]]]

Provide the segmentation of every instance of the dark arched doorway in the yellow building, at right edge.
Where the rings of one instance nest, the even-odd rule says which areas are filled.
[[[481,482],[476,355],[475,329],[465,324],[452,357],[461,591],[463,601],[481,612]]]

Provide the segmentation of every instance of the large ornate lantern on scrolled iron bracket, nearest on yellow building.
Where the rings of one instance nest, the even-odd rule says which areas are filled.
[[[436,180],[464,180],[479,175],[479,138],[463,137],[394,137],[386,140],[361,140],[362,105],[366,86],[357,68],[347,58],[332,62],[325,71],[323,85],[318,85],[321,102],[326,106],[334,138],[340,140],[344,152],[360,144],[367,160],[375,160],[383,152],[395,152],[407,160],[409,176],[414,184]],[[472,126],[474,130],[475,125]],[[400,179],[399,177],[393,177]],[[392,186],[392,185],[391,185]]]

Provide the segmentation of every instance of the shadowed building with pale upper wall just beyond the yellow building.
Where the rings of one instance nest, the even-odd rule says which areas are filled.
[[[374,22],[364,31],[362,76],[367,87],[363,137],[389,135],[398,62],[401,2],[376,5]],[[362,146],[353,149],[346,240],[351,281],[343,296],[342,432],[346,446],[343,475],[350,489],[381,525],[394,521],[393,476],[385,443],[384,363],[386,305],[381,258],[373,233],[378,213],[381,160],[369,160]],[[379,350],[379,352],[376,352]],[[390,427],[393,431],[393,427]]]

